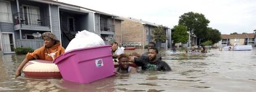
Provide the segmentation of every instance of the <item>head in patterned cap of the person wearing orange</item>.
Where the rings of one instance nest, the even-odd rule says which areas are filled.
[[[51,32],[43,33],[42,36],[43,36],[43,40],[45,40],[44,41],[45,47],[49,48],[59,43],[59,40],[57,39],[57,37]]]

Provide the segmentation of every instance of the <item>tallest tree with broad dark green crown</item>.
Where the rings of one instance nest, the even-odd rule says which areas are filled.
[[[179,17],[179,25],[187,26],[190,34],[197,36],[200,40],[205,39],[208,23],[210,21],[202,13],[187,12]]]

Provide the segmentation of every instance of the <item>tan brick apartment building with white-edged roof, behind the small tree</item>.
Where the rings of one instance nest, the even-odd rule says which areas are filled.
[[[121,18],[122,32],[121,44],[123,46],[135,46],[143,48],[149,42],[153,42],[153,29],[158,25],[148,21],[139,20],[136,18]],[[161,43],[161,47],[167,48],[171,44],[171,29],[165,27],[166,37],[168,39]]]

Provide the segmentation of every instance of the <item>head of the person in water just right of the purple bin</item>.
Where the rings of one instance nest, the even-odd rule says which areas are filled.
[[[129,55],[122,53],[117,57],[119,67],[121,69],[128,69],[129,67]]]

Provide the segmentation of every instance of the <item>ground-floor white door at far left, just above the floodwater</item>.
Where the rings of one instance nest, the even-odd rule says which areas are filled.
[[[14,33],[2,33],[2,50],[4,53],[14,53]]]

